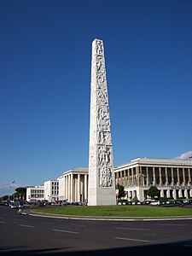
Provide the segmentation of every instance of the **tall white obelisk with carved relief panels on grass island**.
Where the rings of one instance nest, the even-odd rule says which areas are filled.
[[[90,83],[89,206],[115,205],[113,148],[102,40],[92,42]]]

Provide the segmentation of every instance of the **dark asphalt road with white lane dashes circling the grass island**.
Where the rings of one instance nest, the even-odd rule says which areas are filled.
[[[191,255],[192,220],[95,221],[0,207],[1,255]]]

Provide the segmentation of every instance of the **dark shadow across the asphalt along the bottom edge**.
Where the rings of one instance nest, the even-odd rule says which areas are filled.
[[[89,251],[74,251],[74,247],[56,247],[49,249],[37,249],[37,250],[27,250],[24,247],[0,247],[0,255],[22,255],[22,256],[32,256],[32,255],[130,255],[130,256],[176,256],[176,255],[191,255],[192,241],[182,241],[176,243],[167,244],[156,244],[141,247],[119,247],[113,249],[101,249],[101,250],[89,250]]]

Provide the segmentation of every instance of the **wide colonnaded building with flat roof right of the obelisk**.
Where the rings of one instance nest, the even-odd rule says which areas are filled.
[[[152,185],[161,197],[192,197],[191,177],[190,160],[138,158],[115,168],[115,183],[125,187],[128,200],[145,200]]]

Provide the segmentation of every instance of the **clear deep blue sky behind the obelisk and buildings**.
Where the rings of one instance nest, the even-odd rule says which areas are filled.
[[[95,38],[114,165],[190,151],[191,14],[190,0],[1,0],[0,193],[88,166]]]

